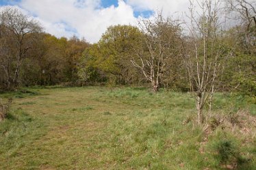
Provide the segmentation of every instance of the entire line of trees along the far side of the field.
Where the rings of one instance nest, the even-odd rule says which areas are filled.
[[[182,91],[233,91],[256,95],[255,3],[229,1],[221,12],[179,20],[141,20],[138,27],[111,26],[96,44],[55,38],[15,8],[0,14],[0,87],[31,85],[150,85]],[[192,9],[192,8],[191,8]],[[207,13],[210,12],[210,13]],[[226,13],[226,14],[227,14]]]

